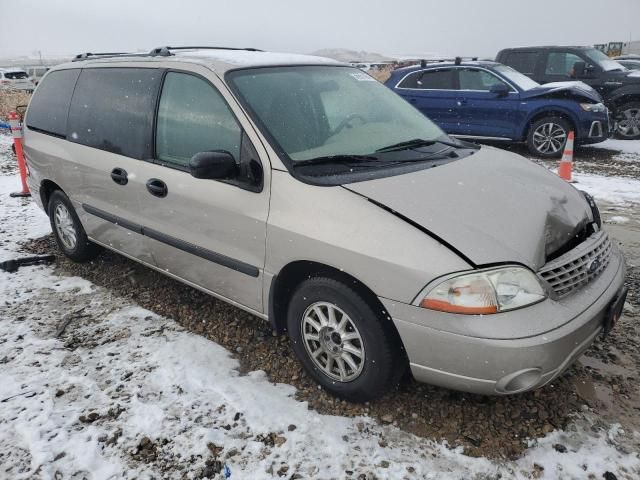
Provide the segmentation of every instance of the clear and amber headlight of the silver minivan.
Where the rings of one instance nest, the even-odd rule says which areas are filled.
[[[465,273],[431,288],[419,305],[441,312],[468,315],[506,312],[547,297],[533,272],[524,267],[501,267]]]

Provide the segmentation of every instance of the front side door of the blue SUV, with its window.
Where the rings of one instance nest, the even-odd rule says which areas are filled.
[[[474,137],[514,138],[520,104],[517,90],[486,69],[460,67],[455,72],[460,133]],[[504,91],[492,91],[498,87]]]

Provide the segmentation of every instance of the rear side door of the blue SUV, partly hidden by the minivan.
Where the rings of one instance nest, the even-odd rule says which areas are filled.
[[[447,133],[460,133],[452,68],[419,70],[404,77],[395,91]]]

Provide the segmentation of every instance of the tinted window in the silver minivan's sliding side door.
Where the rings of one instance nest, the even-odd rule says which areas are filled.
[[[153,68],[92,68],[82,71],[67,138],[133,158],[150,158],[161,72]]]

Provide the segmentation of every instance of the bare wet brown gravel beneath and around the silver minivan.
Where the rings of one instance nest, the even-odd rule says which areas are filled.
[[[584,159],[576,163],[578,171],[589,171],[594,165],[599,174],[629,172],[618,173],[622,166],[610,154],[594,149],[589,152],[598,158],[583,155]],[[629,166],[629,162],[624,163]],[[632,164],[630,170],[635,172],[631,176],[639,176],[636,165]],[[640,431],[640,212],[636,210],[603,208],[605,218],[628,218],[621,231],[631,232],[631,240],[623,239],[623,248],[631,259],[630,296],[616,330],[599,339],[586,357],[553,384],[509,397],[474,396],[418,384],[407,377],[398,391],[378,401],[364,405],[340,401],[306,376],[286,337],[276,337],[267,323],[244,311],[112,252],[104,252],[88,264],[75,264],[60,256],[51,236],[28,242],[24,249],[55,253],[57,273],[77,275],[106,287],[235,352],[243,372],[264,370],[271,381],[295,386],[298,397],[321,413],[369,415],[422,437],[463,445],[471,456],[516,458],[527,448],[527,439],[564,429],[586,411],[599,414],[603,425],[618,422]]]

